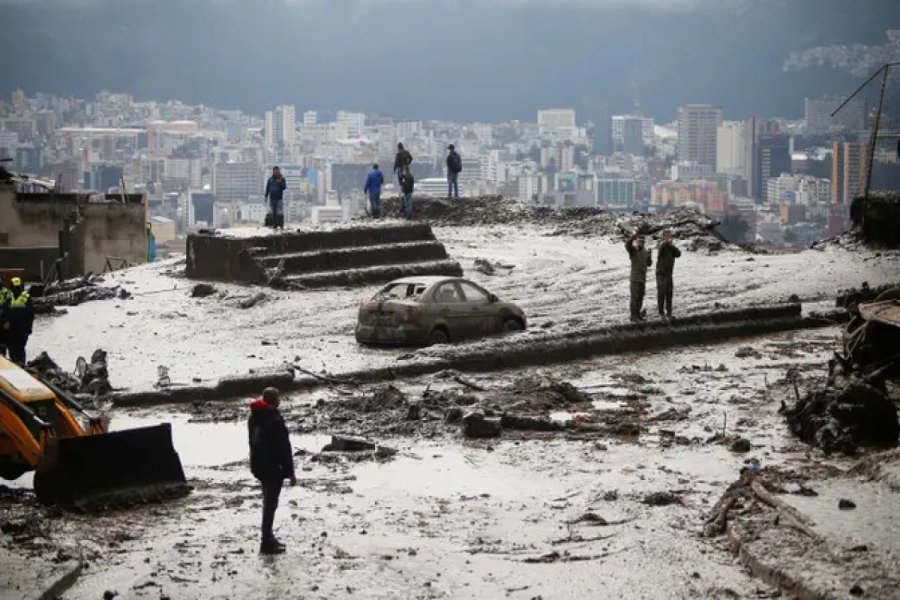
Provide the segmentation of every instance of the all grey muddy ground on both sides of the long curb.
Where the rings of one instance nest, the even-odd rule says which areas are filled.
[[[618,239],[536,225],[436,233],[467,275],[525,308],[532,329],[509,343],[625,320],[627,258]],[[476,271],[476,259],[495,265],[494,274]],[[355,305],[373,288],[215,284],[216,294],[192,298],[194,282],[179,269],[170,261],[108,277],[132,298],[42,318],[31,352],[49,349],[67,366],[102,346],[113,386],[131,389],[152,388],[159,365],[189,384],[283,361],[340,374],[441,352],[357,347]],[[676,267],[676,312],[791,294],[806,310],[824,309],[839,288],[863,280],[900,280],[896,253],[689,251]],[[259,291],[267,301],[239,308]],[[820,384],[839,343],[839,329],[827,327],[292,394],[283,409],[300,482],[282,496],[276,528],[289,549],[275,558],[257,554],[248,399],[115,409],[113,427],[173,423],[194,492],[128,511],[61,514],[36,506],[23,477],[0,493],[0,598],[37,597],[81,563],[61,597],[778,597],[735,557],[727,536],[704,536],[704,524],[754,461],[763,471],[831,473],[855,463],[792,438],[778,414],[794,395],[788,370],[801,386]],[[470,411],[506,415],[507,425],[516,423],[510,415],[528,417],[544,430],[505,427],[499,438],[466,439],[456,421]],[[397,452],[321,452],[333,434]]]

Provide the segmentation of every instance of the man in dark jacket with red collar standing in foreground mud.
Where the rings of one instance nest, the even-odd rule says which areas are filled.
[[[294,474],[294,457],[287,426],[278,412],[279,394],[276,388],[263,390],[262,398],[250,404],[247,430],[250,438],[250,472],[262,485],[263,517],[262,554],[281,554],[284,544],[275,539],[272,524],[278,508],[278,496],[284,480],[297,483]]]

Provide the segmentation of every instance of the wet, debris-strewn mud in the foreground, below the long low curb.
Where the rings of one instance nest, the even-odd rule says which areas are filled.
[[[464,441],[439,411],[424,411],[398,436],[378,411],[350,425],[337,418],[374,388],[292,396],[284,410],[303,451],[301,481],[282,498],[277,534],[289,550],[276,558],[256,553],[259,492],[245,460],[243,402],[120,413],[118,427],[171,420],[196,489],[169,504],[55,521],[51,548],[80,547],[89,563],[64,598],[766,597],[722,542],[700,537],[703,515],[751,457],[763,466],[808,460],[781,426],[786,388],[776,382],[786,364],[820,374],[835,337],[744,341],[758,358],[737,358],[742,346],[725,344],[465,380],[486,388],[475,395],[490,405],[501,395],[492,390],[523,378],[568,379],[590,395],[577,409],[594,422],[634,426],[622,435]],[[426,390],[473,393],[439,376],[398,388],[407,402]],[[723,427],[751,450],[708,441]],[[325,460],[317,453],[334,432],[400,452],[384,462]]]

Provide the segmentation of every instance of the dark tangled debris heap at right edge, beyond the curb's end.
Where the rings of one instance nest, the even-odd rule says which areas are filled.
[[[785,409],[791,431],[826,453],[896,446],[900,436],[900,286],[878,293],[863,284],[838,298],[850,322],[842,352],[829,361],[823,389]],[[795,384],[796,385],[796,384]],[[795,388],[796,390],[796,388]]]

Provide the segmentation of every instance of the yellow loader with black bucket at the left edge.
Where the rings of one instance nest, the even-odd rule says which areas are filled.
[[[189,493],[168,423],[107,426],[65,390],[0,357],[0,477],[34,471],[39,501],[81,510]]]

